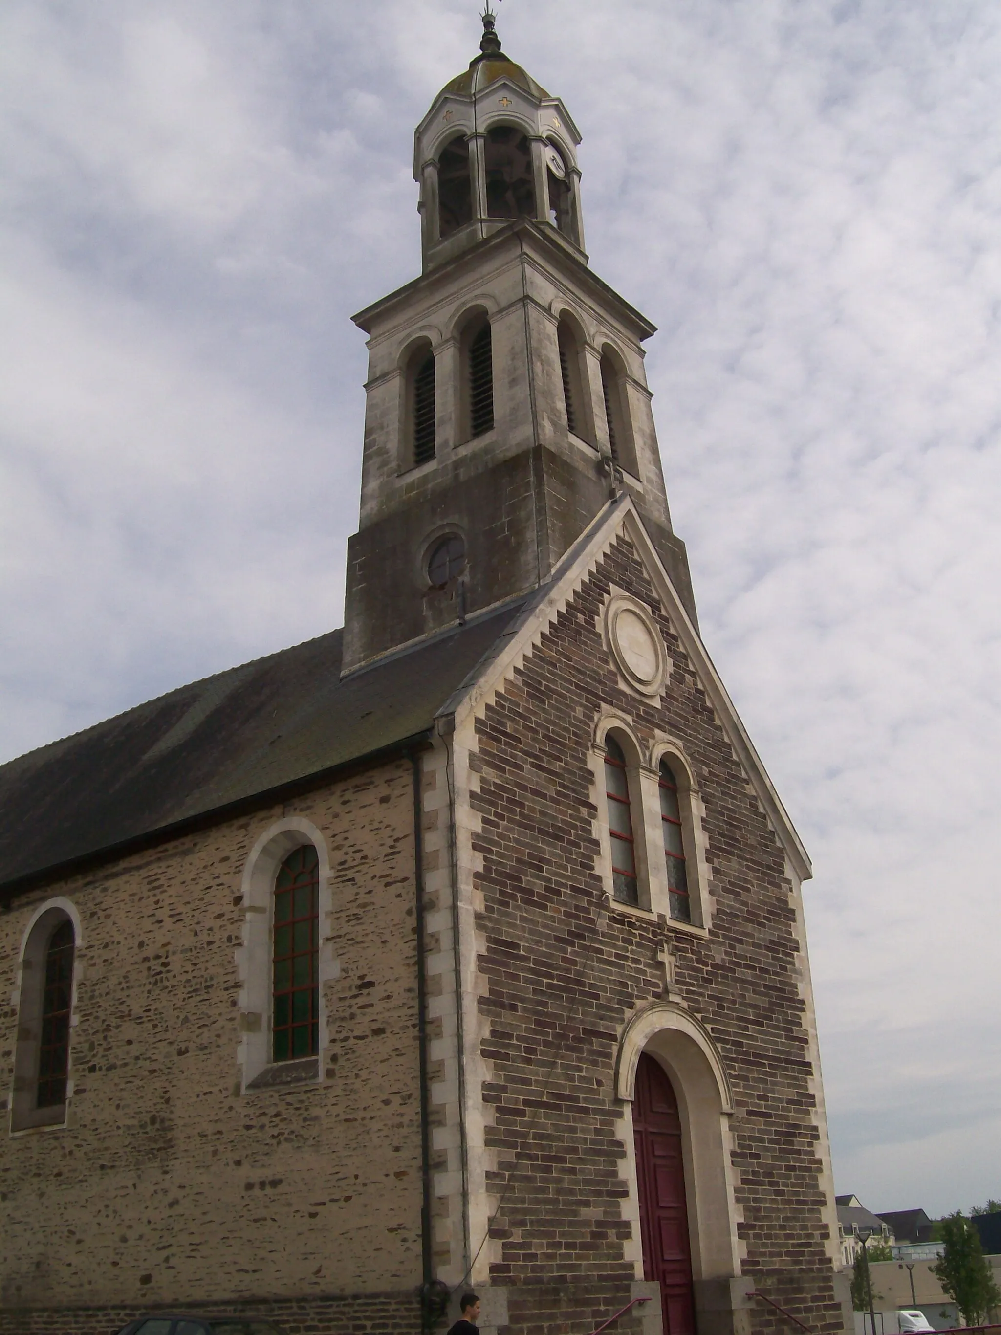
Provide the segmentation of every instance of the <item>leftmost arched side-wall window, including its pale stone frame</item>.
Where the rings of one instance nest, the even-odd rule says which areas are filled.
[[[11,1129],[65,1120],[76,928],[60,905],[35,921],[21,960]]]

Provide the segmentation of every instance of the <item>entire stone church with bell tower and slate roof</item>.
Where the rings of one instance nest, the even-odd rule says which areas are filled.
[[[355,316],[343,630],[0,768],[0,1335],[853,1328],[810,862],[581,136],[483,23]]]

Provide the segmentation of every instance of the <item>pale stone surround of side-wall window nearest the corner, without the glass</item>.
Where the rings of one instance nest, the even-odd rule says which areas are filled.
[[[319,858],[319,1056],[298,1061],[272,1061],[271,967],[275,877],[288,854],[303,844],[312,844]],[[340,976],[340,964],[334,957],[330,854],[323,833],[302,816],[288,816],[275,821],[258,838],[247,857],[242,893],[243,944],[235,952],[240,979],[240,1040],[236,1049],[240,1093],[287,1088],[294,1084],[316,1084],[323,1080],[328,1047],[324,984]]]

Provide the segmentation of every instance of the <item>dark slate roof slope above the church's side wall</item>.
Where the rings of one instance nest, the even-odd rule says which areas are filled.
[[[0,766],[0,892],[423,738],[525,599],[340,680],[334,630]]]

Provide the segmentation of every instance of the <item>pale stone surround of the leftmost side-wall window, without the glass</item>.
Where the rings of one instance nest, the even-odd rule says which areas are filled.
[[[41,999],[45,983],[45,951],[55,928],[64,921],[73,924],[73,985],[69,1016],[69,1063],[67,1068],[65,1103],[51,1108],[35,1108],[35,1087],[37,1083],[39,1037],[41,1020]],[[11,1005],[17,1013],[17,1040],[13,1060],[13,1079],[7,1100],[9,1133],[24,1135],[35,1131],[64,1131],[69,1121],[69,1105],[73,1096],[73,1044],[72,1035],[79,1015],[76,1009],[77,987],[80,984],[80,913],[72,900],[56,896],[40,904],[31,916],[24,936],[17,965],[17,980]]]

